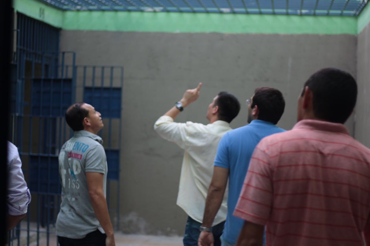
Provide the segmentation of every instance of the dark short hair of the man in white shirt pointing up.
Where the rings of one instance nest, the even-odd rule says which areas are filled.
[[[217,96],[213,106],[218,106],[218,119],[230,123],[238,115],[240,103],[234,95],[228,92],[222,91]]]

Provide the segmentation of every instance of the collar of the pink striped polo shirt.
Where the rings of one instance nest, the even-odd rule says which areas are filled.
[[[323,120],[300,120],[293,129],[313,129],[321,131],[332,131],[349,135],[347,128],[340,123],[332,123]]]

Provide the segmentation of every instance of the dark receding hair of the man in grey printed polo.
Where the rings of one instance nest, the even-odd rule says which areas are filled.
[[[84,102],[74,103],[68,107],[67,112],[65,112],[65,121],[73,131],[84,130],[84,125],[82,122],[85,117],[89,115],[88,110],[82,107],[84,104]]]

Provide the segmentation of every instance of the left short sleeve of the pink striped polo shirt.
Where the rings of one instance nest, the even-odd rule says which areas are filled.
[[[259,225],[268,221],[273,201],[272,167],[264,143],[262,140],[253,152],[233,214]]]

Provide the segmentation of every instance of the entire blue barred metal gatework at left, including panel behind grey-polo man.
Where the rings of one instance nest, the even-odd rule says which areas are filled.
[[[75,101],[84,100],[102,114],[107,202],[115,229],[119,226],[123,67],[77,66],[75,52],[58,50],[59,31],[17,13],[8,138],[19,148],[32,201],[27,217],[9,233],[10,245],[57,245],[55,221],[61,194],[58,154],[73,135],[64,114]]]

